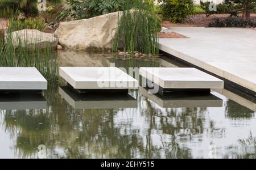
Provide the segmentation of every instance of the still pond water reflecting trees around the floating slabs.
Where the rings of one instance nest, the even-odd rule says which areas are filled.
[[[58,55],[59,66],[184,67],[163,56]],[[43,96],[1,96],[0,111],[0,158],[256,157],[256,104],[228,90],[163,98],[139,88],[80,97],[63,81]]]

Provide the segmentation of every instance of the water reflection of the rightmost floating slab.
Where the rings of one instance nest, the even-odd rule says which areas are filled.
[[[160,96],[159,94],[150,94],[146,88],[139,87],[139,92],[148,99],[154,101],[162,108],[195,108],[195,107],[222,107],[223,100],[209,94],[204,96],[194,95],[173,95]]]

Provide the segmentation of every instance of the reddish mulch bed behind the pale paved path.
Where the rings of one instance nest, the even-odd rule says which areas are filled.
[[[241,15],[240,15],[241,16]],[[205,14],[197,14],[189,17],[187,22],[184,23],[171,23],[164,20],[162,27],[207,27],[210,22],[213,22],[213,18],[227,18],[229,14],[214,14],[207,17]],[[256,22],[256,14],[250,15],[250,20]]]

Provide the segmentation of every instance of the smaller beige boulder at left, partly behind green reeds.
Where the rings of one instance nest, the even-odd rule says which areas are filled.
[[[28,49],[35,48],[56,48],[58,40],[52,33],[40,32],[36,29],[22,29],[11,33],[13,45],[27,46]]]

